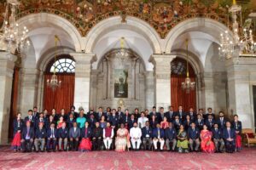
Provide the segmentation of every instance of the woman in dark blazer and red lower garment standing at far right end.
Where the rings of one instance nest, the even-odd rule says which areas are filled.
[[[234,116],[233,128],[236,130],[236,151],[241,150],[241,121],[238,120],[238,116]]]

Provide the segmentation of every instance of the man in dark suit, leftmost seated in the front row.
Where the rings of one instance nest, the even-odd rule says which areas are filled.
[[[21,133],[21,151],[23,152],[31,152],[32,151],[32,143],[34,139],[34,129],[31,127],[31,122],[26,121],[26,127],[23,127]]]

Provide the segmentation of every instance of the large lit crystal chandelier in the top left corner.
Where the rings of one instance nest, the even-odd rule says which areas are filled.
[[[7,1],[1,29],[2,33],[0,35],[0,48],[13,54],[15,51],[24,54],[30,46],[30,41],[27,38],[28,29],[26,26],[20,28],[19,24],[16,22],[16,14],[19,6],[20,3],[17,0]]]

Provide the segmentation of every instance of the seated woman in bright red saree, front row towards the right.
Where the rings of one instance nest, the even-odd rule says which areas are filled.
[[[200,133],[201,137],[201,150],[206,153],[213,153],[215,150],[214,143],[212,142],[212,132],[207,129],[207,125],[203,125]]]

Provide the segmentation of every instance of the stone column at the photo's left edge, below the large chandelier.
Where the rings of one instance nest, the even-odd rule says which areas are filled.
[[[0,52],[0,144],[8,143],[9,111],[16,57]]]

